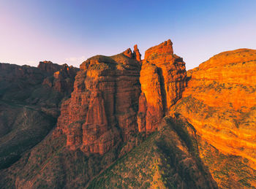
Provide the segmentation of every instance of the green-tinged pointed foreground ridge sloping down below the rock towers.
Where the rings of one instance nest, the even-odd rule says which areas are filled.
[[[148,138],[89,188],[217,188],[200,161],[194,128],[165,117]]]

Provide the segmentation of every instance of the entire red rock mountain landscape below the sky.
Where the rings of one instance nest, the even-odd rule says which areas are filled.
[[[256,188],[256,50],[172,45],[1,63],[0,188]]]

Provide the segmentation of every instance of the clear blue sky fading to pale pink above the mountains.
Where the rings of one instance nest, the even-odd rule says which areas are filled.
[[[255,0],[0,0],[0,62],[79,66],[171,39],[192,69],[226,50],[256,49],[255,9]]]

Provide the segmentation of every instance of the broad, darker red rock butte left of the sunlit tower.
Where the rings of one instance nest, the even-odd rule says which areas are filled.
[[[71,98],[61,107],[58,128],[71,149],[108,152],[138,132],[140,53],[128,49],[114,56],[97,55],[80,65]]]

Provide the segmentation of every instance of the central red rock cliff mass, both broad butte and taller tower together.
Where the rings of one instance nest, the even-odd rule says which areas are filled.
[[[97,55],[80,65],[58,122],[72,150],[104,154],[131,134],[148,134],[181,98],[185,63],[170,40],[146,51],[140,71],[141,62],[135,45],[133,52]]]

